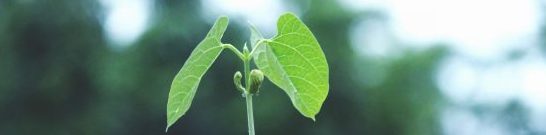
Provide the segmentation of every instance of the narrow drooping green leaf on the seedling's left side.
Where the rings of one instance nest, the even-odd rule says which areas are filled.
[[[165,131],[190,108],[201,78],[224,49],[220,40],[227,25],[228,18],[219,17],[207,37],[192,51],[182,69],[174,77],[167,103]]]

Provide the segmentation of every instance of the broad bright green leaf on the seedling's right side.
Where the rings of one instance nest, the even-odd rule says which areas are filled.
[[[253,47],[260,38],[251,27]],[[277,35],[266,44],[256,48],[256,65],[302,115],[315,120],[329,89],[328,63],[315,36],[294,14],[286,13],[277,22]]]

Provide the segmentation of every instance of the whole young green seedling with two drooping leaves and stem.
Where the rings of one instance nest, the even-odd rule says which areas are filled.
[[[277,35],[271,39],[262,37],[251,25],[252,49],[249,51],[245,44],[240,52],[233,45],[221,42],[227,25],[228,18],[219,17],[174,77],[167,103],[166,130],[188,111],[201,78],[224,49],[231,50],[243,62],[243,73],[237,71],[233,81],[235,89],[246,98],[250,135],[254,135],[252,96],[259,92],[264,75],[284,90],[303,116],[315,121],[328,95],[328,63],[309,28],[294,14],[285,13],[277,22]],[[252,60],[258,69],[251,70]]]

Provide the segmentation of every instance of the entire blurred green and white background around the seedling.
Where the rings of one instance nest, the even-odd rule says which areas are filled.
[[[296,13],[330,65],[317,121],[266,82],[259,135],[545,135],[545,0],[1,0],[0,135],[244,135],[224,52],[168,133],[174,75],[220,15],[238,48]]]

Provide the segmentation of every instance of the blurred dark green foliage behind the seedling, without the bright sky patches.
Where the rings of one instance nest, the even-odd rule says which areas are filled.
[[[0,1],[0,134],[165,134],[171,79],[210,22],[200,16],[199,1],[154,2],[150,28],[120,49],[105,38],[97,1]],[[254,102],[257,134],[441,134],[444,101],[433,74],[445,48],[404,50],[387,60],[358,57],[350,26],[373,13],[349,12],[329,0],[290,3],[305,9],[301,18],[325,51],[330,93],[312,122],[265,82]],[[242,45],[245,26],[232,22],[224,42]],[[168,134],[247,133],[244,99],[231,80],[242,65],[230,53],[221,55],[192,109]]]

